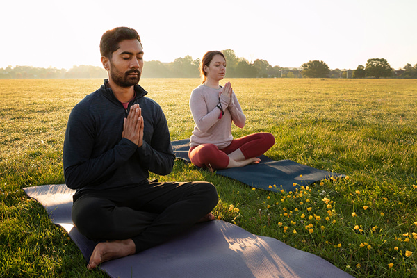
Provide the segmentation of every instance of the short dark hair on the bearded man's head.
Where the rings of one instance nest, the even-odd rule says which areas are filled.
[[[135,29],[128,27],[117,27],[106,31],[106,33],[101,36],[100,40],[101,56],[111,58],[113,52],[119,49],[119,44],[122,42],[122,40],[132,39],[138,40],[140,46],[142,47],[142,42],[140,42],[139,34]]]

